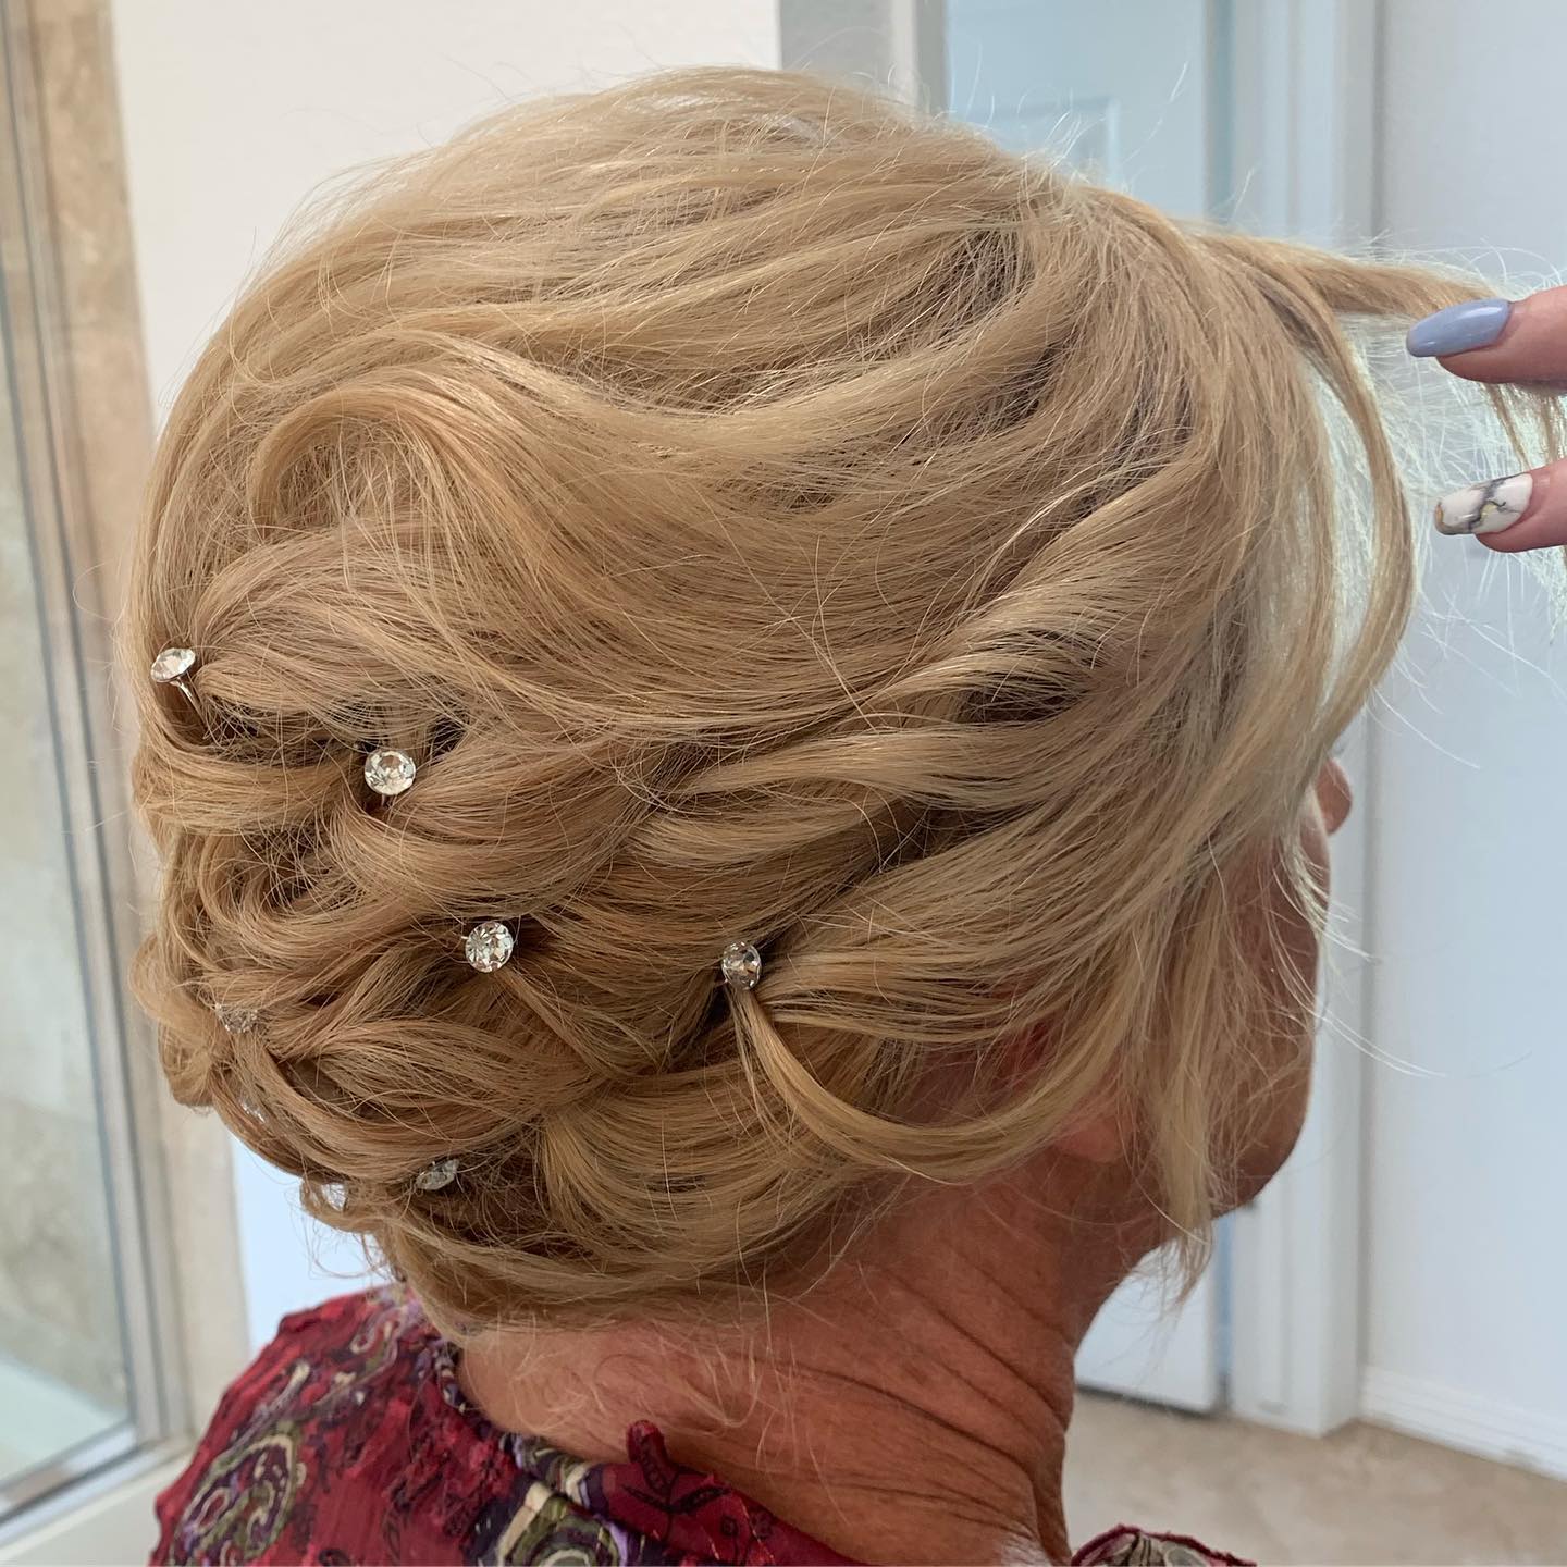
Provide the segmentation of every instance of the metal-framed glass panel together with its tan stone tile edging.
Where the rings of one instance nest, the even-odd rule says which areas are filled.
[[[118,583],[83,483],[36,66],[27,13],[0,5],[0,1536],[182,1423],[152,1051],[124,989]]]

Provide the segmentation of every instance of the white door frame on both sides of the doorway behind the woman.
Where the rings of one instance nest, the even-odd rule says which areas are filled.
[[[1207,0],[1214,92],[1210,212],[1258,233],[1365,246],[1376,216],[1381,0]],[[779,0],[780,64],[860,77],[946,107],[945,0]],[[1341,757],[1366,794],[1376,732]],[[1229,1406],[1321,1435],[1359,1413],[1365,1053],[1371,945],[1363,818],[1334,845],[1335,920],[1324,964],[1312,1105],[1294,1155],[1233,1216]],[[1221,1348],[1222,1363],[1222,1348]]]

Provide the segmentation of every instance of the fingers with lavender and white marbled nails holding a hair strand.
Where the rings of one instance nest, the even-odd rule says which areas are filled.
[[[1567,288],[1451,306],[1417,321],[1407,348],[1465,381],[1567,392]],[[1443,495],[1437,528],[1509,553],[1567,544],[1567,461]]]

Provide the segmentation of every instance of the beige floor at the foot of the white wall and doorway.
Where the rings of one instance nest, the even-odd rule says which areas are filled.
[[[1323,1440],[1080,1395],[1067,1523],[1194,1534],[1272,1564],[1567,1562],[1567,1482],[1377,1426]]]

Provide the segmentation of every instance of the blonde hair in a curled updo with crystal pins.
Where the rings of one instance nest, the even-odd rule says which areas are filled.
[[[1200,1244],[1261,1092],[1236,878],[1279,852],[1315,907],[1297,812],[1410,606],[1341,318],[1471,291],[784,74],[508,108],[332,194],[139,536],[176,1095],[448,1324],[784,1277],[1106,1091]]]

